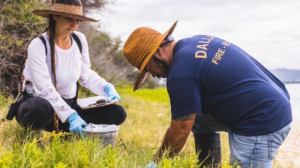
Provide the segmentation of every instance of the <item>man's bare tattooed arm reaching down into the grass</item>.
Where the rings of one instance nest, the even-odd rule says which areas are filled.
[[[167,130],[163,143],[155,155],[155,161],[158,162],[161,159],[166,149],[170,150],[170,157],[180,152],[192,130],[195,116],[196,113],[188,114],[171,121],[171,126]]]

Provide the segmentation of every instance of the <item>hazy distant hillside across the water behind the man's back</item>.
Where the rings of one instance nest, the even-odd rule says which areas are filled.
[[[300,70],[270,70],[283,83],[300,83]]]

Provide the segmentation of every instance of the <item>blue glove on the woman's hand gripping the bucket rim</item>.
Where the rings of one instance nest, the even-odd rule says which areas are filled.
[[[82,118],[77,114],[77,112],[73,112],[70,117],[67,119],[67,121],[70,123],[69,130],[73,133],[79,133],[82,134],[82,127],[85,126],[86,122],[82,120]]]

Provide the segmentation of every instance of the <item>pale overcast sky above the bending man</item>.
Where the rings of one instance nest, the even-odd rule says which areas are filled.
[[[266,68],[300,70],[299,0],[116,0],[110,10],[93,14],[102,30],[123,44],[138,27],[172,34],[176,41],[198,34],[223,38]]]

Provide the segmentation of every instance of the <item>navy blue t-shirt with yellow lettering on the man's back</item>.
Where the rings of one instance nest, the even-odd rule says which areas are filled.
[[[284,84],[241,48],[213,36],[177,42],[167,90],[172,119],[211,114],[244,136],[269,134],[292,121]]]

